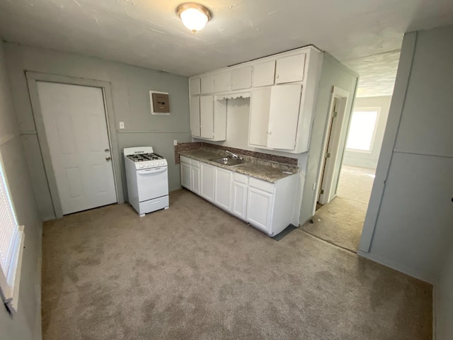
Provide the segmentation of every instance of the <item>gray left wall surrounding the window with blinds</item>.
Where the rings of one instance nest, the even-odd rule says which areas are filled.
[[[1,339],[41,339],[42,222],[28,176],[25,154],[13,111],[6,74],[4,43],[0,40],[0,152],[18,222],[25,226],[18,313],[12,318],[0,306]]]

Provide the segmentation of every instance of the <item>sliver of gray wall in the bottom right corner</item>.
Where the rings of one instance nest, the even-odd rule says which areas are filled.
[[[453,339],[453,245],[435,288],[436,340]]]

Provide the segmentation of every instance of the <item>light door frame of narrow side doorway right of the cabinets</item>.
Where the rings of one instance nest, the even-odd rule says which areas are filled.
[[[345,151],[345,142],[343,142],[343,140],[345,141],[345,136],[348,131],[348,125],[345,125],[345,123],[348,123],[349,120],[349,117],[346,117],[346,108],[348,108],[349,96],[350,94],[348,91],[340,89],[337,86],[332,86],[329,113],[326,120],[326,129],[324,130],[321,166],[319,167],[318,180],[316,181],[316,183],[318,183],[318,187],[316,189],[315,200],[321,204],[327,204],[336,197],[336,189],[338,186],[338,176],[336,176],[336,174],[340,174],[341,162]],[[338,99],[340,103],[338,104],[339,108],[338,116],[336,117],[337,120],[335,125],[332,127],[333,108],[336,99]],[[331,143],[333,144],[331,145]],[[331,145],[331,157],[329,162],[326,164],[326,154],[328,152],[329,145]],[[336,183],[335,179],[337,179]],[[321,197],[320,192],[323,183],[324,193]]]

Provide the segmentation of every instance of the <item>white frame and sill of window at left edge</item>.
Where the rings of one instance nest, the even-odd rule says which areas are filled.
[[[0,153],[0,181],[4,182],[6,195],[8,196],[9,205],[11,208],[11,212],[13,213],[14,222],[16,223],[17,228],[13,244],[13,252],[11,255],[11,260],[9,262],[10,266],[8,268],[8,273],[5,275],[3,269],[0,268],[0,297],[8,311],[11,314],[14,314],[17,312],[18,309],[18,295],[21,280],[21,268],[25,232],[24,226],[19,225],[18,223],[16,209],[14,208],[14,203],[11,198],[11,190],[8,184],[8,178],[6,177],[5,166],[1,153]]]

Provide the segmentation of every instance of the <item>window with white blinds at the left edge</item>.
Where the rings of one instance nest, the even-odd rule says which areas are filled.
[[[11,312],[17,310],[23,236],[23,226],[19,226],[16,219],[0,155],[0,293]]]

